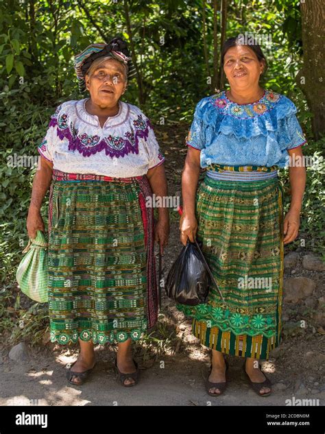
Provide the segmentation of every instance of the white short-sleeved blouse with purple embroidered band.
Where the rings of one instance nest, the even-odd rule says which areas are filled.
[[[149,119],[132,104],[119,101],[119,113],[101,128],[85,99],[66,101],[51,116],[38,152],[67,173],[112,178],[143,176],[165,160]]]

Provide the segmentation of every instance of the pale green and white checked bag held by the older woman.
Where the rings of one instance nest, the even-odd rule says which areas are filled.
[[[36,302],[48,301],[47,287],[47,242],[42,231],[38,230],[34,239],[29,238],[16,272],[16,280],[21,291]]]

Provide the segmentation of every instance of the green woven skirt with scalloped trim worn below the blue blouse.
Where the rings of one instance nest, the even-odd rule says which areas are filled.
[[[204,178],[197,189],[197,240],[214,286],[208,302],[177,304],[193,317],[193,334],[208,348],[267,359],[280,343],[283,235],[278,178],[254,181]]]

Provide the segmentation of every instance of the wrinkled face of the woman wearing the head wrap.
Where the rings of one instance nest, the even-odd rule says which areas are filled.
[[[125,68],[116,59],[101,62],[85,80],[91,100],[101,108],[115,107],[127,85]]]

